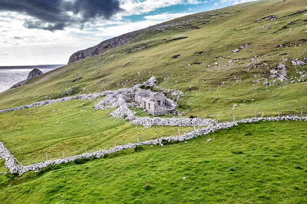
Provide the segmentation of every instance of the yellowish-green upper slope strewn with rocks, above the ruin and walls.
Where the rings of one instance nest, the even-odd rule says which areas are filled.
[[[297,70],[306,71],[306,65],[293,66],[291,58],[305,57],[302,53],[307,43],[295,47],[295,42],[300,43],[305,36],[307,22],[304,20],[307,20],[307,16],[297,14],[283,18],[306,7],[305,1],[260,1],[195,14],[198,20],[192,21],[192,24],[200,25],[208,21],[200,29],[146,32],[112,52],[64,66],[34,78],[33,84],[1,93],[0,108],[44,100],[46,95],[57,98],[72,86],[81,90],[80,93],[130,87],[155,75],[160,78],[161,86],[184,91],[186,97],[180,104],[189,109],[190,114],[200,117],[229,120],[230,115],[235,114],[244,118],[255,109],[267,115],[276,115],[278,109],[287,113],[299,112],[300,109],[307,109],[304,94],[307,83],[268,87],[262,84],[264,80],[260,84],[253,81],[260,77],[268,78],[268,71],[279,62],[284,62],[288,67],[289,78],[298,76]],[[255,22],[269,15],[277,15],[278,19]],[[295,24],[288,25],[290,21]],[[261,26],[272,27],[269,30],[255,29]],[[288,28],[282,29],[284,26]],[[183,36],[188,38],[168,41]],[[279,44],[287,42],[291,43],[289,48],[277,48]],[[126,52],[143,47],[144,43],[149,47]],[[246,43],[250,43],[246,50],[236,54],[230,52]],[[201,51],[203,55],[194,55]],[[288,54],[283,55],[289,58],[288,61],[283,61],[282,56],[278,55],[284,53]],[[177,54],[181,55],[180,58],[173,59],[172,56]],[[218,56],[224,59],[216,59]],[[246,66],[252,63],[254,56],[259,56],[256,58],[258,68],[247,71]],[[231,59],[240,61],[229,63]],[[199,61],[204,63],[188,66],[188,63]],[[218,64],[215,65],[215,62]],[[260,77],[254,77],[257,74]],[[80,76],[82,80],[72,83]],[[237,79],[242,81],[236,82]],[[117,86],[121,82],[126,84]],[[82,90],[83,87],[86,89]],[[194,91],[190,92],[189,87],[193,87]],[[255,102],[251,103],[252,99],[256,99]],[[233,104],[241,105],[232,110]]]

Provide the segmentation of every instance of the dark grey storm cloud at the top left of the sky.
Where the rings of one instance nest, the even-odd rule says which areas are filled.
[[[24,22],[26,28],[55,31],[70,25],[82,28],[85,22],[109,19],[122,9],[119,0],[0,0],[0,11],[16,11],[34,17]],[[78,14],[81,17],[77,17]]]

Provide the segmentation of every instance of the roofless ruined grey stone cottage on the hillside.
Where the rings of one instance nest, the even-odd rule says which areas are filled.
[[[172,114],[177,110],[174,101],[150,90],[139,90],[135,95],[135,101],[153,116]]]

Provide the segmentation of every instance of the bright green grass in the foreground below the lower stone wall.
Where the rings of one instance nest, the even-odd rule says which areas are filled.
[[[208,138],[215,139],[207,142]],[[305,203],[306,143],[305,122],[245,124],[188,143],[128,150],[17,179],[0,176],[0,199],[2,203]],[[149,190],[144,188],[146,181]]]

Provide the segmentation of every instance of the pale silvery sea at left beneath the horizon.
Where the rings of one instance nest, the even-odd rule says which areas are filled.
[[[35,65],[35,66],[0,66],[0,92],[4,92],[19,81],[26,80],[33,69],[42,73],[50,72],[65,64]]]

